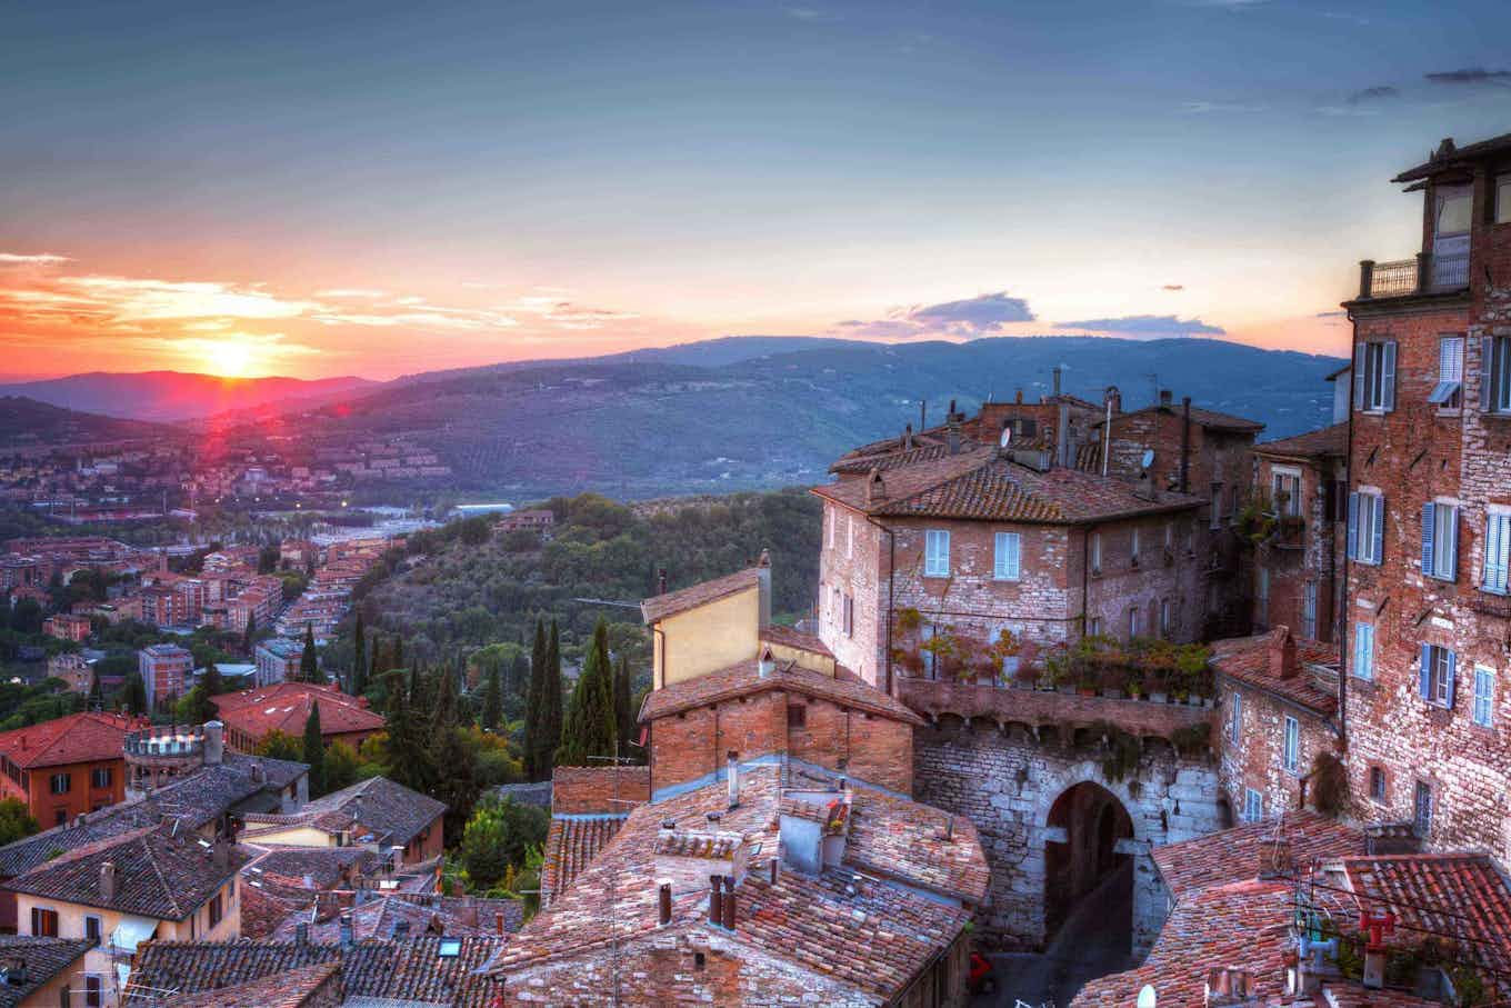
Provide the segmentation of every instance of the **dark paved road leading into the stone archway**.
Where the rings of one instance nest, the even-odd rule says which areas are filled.
[[[997,993],[973,997],[972,1008],[1014,1008],[1018,1000],[1065,1008],[1088,981],[1130,969],[1127,926],[1106,922],[1130,920],[1132,870],[1124,866],[1082,899],[1043,954],[990,955]]]

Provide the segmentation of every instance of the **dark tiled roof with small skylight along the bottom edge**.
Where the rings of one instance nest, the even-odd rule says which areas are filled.
[[[443,957],[441,938],[360,942],[351,949],[314,942],[148,942],[136,952],[127,1005],[151,1005],[154,990],[180,994],[236,987],[338,961],[346,997],[393,997],[458,1008],[487,1008],[493,982],[479,975],[505,938],[462,937],[455,957]]]

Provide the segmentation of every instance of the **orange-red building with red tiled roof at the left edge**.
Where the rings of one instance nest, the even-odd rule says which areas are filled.
[[[86,712],[0,734],[0,795],[24,801],[44,827],[121,801],[122,745],[141,724]]]

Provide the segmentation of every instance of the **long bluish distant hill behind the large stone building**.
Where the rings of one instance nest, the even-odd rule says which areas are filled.
[[[822,482],[843,450],[917,425],[920,400],[937,423],[950,399],[966,410],[1018,388],[1037,399],[1055,366],[1065,369],[1065,391],[1094,402],[1117,384],[1124,408],[1136,408],[1154,399],[1157,381],[1177,400],[1189,394],[1263,422],[1265,438],[1289,437],[1330,422],[1324,378],[1342,363],[1197,339],[710,340],[417,375],[338,408],[305,410],[301,429],[322,438],[403,432],[452,465],[459,491],[642,499]]]

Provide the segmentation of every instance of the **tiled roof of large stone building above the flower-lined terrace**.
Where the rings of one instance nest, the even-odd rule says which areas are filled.
[[[885,497],[870,499],[869,481],[852,479],[816,487],[814,494],[878,517],[973,518],[1037,524],[1074,524],[1109,518],[1183,511],[1201,497],[1157,491],[1141,497],[1115,476],[1055,467],[1038,472],[978,449],[898,470],[885,478]]]

